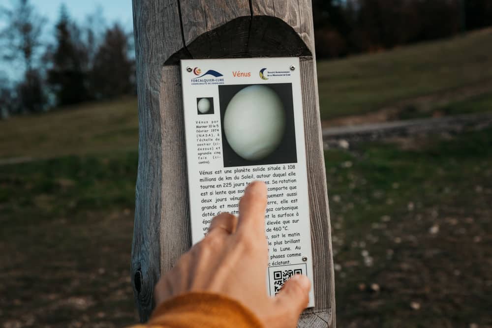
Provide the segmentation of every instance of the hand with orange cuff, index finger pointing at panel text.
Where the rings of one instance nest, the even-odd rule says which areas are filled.
[[[213,309],[203,308],[207,302],[193,305],[192,296],[207,295],[220,308],[236,307],[234,327],[296,327],[299,315],[306,308],[310,282],[306,276],[289,279],[280,293],[267,295],[265,273],[268,267],[268,244],[265,237],[267,190],[263,182],[251,183],[241,198],[239,217],[221,213],[213,220],[207,236],[194,245],[176,266],[161,277],[155,286],[156,310],[149,324],[153,327],[173,324],[170,316],[176,307],[168,307],[188,297],[188,316],[193,306],[205,319],[213,319]],[[198,294],[197,294],[198,293]],[[213,298],[213,299],[212,299]],[[211,303],[210,303],[211,304]],[[164,308],[164,310],[161,310]],[[239,311],[239,312],[238,312]],[[184,313],[184,312],[183,312]],[[195,311],[196,314],[196,311]],[[167,317],[166,317],[167,316]],[[160,319],[159,319],[160,318]],[[231,317],[232,318],[232,317]],[[248,319],[249,318],[249,319]],[[227,319],[227,318],[226,318]],[[173,320],[177,320],[175,317]],[[231,319],[232,320],[232,319]],[[243,320],[242,322],[240,322]],[[250,322],[247,322],[247,321]],[[244,323],[246,326],[240,326]],[[229,327],[215,325],[214,327]]]

